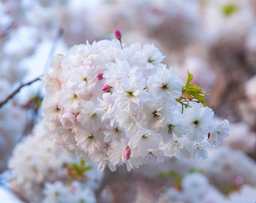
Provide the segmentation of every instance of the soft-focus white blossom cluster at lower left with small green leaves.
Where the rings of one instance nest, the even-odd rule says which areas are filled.
[[[88,169],[92,166],[88,166]],[[91,169],[86,174],[82,173],[74,178],[72,175],[75,175],[75,169],[78,167],[80,167],[79,158],[59,148],[48,137],[48,132],[45,131],[42,123],[39,123],[34,129],[34,134],[16,145],[13,151],[9,161],[12,174],[10,185],[13,191],[18,192],[18,196],[21,195],[22,199],[29,202],[42,202],[44,198],[51,198],[51,188],[55,188],[54,185],[62,185],[63,188],[70,188],[71,191],[78,193],[86,187],[88,190],[83,197],[88,191],[94,196],[93,189],[98,186],[102,175],[99,171]],[[79,183],[74,181],[76,179]],[[48,186],[51,184],[53,185]],[[51,202],[59,202],[57,200]]]

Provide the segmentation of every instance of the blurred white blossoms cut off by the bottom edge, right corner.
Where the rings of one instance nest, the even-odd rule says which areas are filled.
[[[211,185],[208,178],[200,173],[187,173],[182,177],[181,183],[177,188],[168,188],[165,193],[161,194],[158,203],[240,203],[255,202],[256,188],[251,185],[243,185],[239,191],[234,191],[225,196],[217,188]]]

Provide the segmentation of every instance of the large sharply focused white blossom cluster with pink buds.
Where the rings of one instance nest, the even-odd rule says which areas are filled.
[[[206,148],[228,136],[228,121],[215,123],[214,112],[197,102],[183,110],[176,100],[184,83],[163,58],[154,45],[122,48],[118,40],[56,55],[42,104],[53,139],[101,169],[131,170],[165,156],[206,158]]]

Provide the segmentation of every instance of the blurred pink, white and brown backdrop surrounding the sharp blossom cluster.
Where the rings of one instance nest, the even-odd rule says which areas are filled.
[[[187,70],[192,72],[193,83],[210,93],[208,107],[217,118],[230,121],[230,137],[210,151],[206,161],[188,163],[170,158],[130,173],[106,170],[100,175],[91,163],[86,180],[80,181],[87,185],[94,182],[88,186],[94,194],[91,201],[156,202],[166,188],[183,191],[184,177],[196,173],[214,190],[209,192],[211,196],[243,202],[241,196],[251,195],[255,202],[255,0],[1,0],[0,102],[20,83],[47,72],[53,55],[65,55],[69,47],[87,40],[113,39],[115,28],[121,30],[124,45],[140,42],[158,47],[166,56],[164,63],[183,80]],[[42,119],[43,95],[42,82],[37,81],[0,107],[0,203],[42,202],[48,195],[48,183],[67,181],[59,172],[51,178],[36,172],[41,176],[34,181],[29,180],[29,174],[20,177],[15,170],[22,166],[20,174],[29,173],[32,166],[42,164],[45,170],[60,171],[52,166],[60,155],[49,155],[55,158],[49,163],[45,156],[34,153],[40,147],[33,146],[42,142],[37,134],[43,130],[38,130],[37,123]],[[30,144],[24,143],[27,139]],[[62,168],[67,163],[81,164],[75,158],[73,162],[62,161]],[[17,181],[28,187],[24,190]],[[146,200],[149,197],[151,200]]]

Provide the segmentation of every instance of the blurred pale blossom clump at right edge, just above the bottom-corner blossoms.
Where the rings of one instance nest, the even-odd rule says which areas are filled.
[[[230,189],[240,188],[244,184],[256,186],[255,161],[243,152],[227,146],[211,150],[208,159],[199,166],[211,183],[223,192],[227,193]]]

